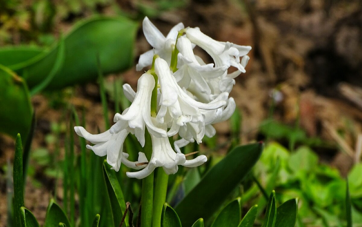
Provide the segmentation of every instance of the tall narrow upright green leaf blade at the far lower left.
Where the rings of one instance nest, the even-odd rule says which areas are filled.
[[[16,137],[15,156],[13,166],[14,179],[14,215],[16,226],[21,226],[21,207],[24,206],[24,178],[23,178],[23,160],[22,160],[22,145],[20,134]]]

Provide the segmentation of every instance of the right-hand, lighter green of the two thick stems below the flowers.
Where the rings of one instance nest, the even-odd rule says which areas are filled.
[[[155,196],[153,199],[153,219],[152,227],[161,226],[161,212],[166,201],[168,175],[163,168],[158,167],[156,170]]]

